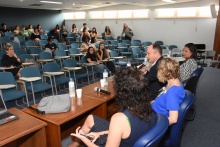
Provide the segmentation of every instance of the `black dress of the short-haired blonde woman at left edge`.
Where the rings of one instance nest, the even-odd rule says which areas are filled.
[[[18,73],[18,71],[21,69],[21,62],[18,62],[17,59],[13,56],[10,57],[7,54],[2,56],[2,66],[4,67],[10,67],[10,66],[14,66],[13,69],[7,69],[6,71],[11,72],[14,76],[16,76],[16,74]]]

